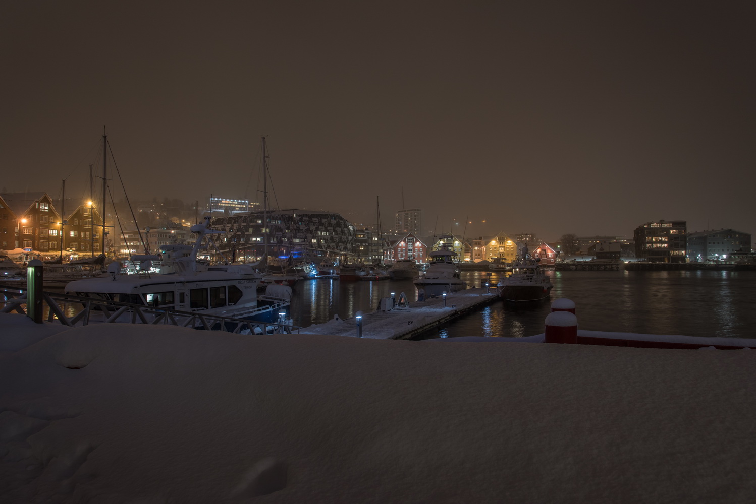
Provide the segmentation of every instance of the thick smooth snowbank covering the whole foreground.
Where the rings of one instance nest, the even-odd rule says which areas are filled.
[[[754,351],[26,321],[0,317],[2,502],[756,495]]]

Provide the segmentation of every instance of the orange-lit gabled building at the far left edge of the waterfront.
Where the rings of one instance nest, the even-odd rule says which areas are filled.
[[[58,249],[60,214],[47,192],[6,192],[0,198],[5,207],[0,214],[8,214],[3,223],[8,226],[12,222],[14,226],[13,247],[11,239],[3,239],[7,247],[30,248],[42,254]],[[3,236],[7,235],[8,232]]]

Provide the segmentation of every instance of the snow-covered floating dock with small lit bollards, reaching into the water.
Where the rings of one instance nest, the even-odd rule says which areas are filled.
[[[499,299],[495,288],[460,290],[443,297],[408,303],[395,309],[365,313],[360,321],[361,337],[377,340],[410,340],[453,318],[476,312]],[[446,304],[446,306],[444,306]],[[299,333],[336,334],[357,337],[357,318],[333,318],[325,324],[302,327]]]

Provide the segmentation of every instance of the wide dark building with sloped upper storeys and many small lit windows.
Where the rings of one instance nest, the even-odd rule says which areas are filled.
[[[263,220],[266,220],[263,226]],[[216,217],[210,229],[222,231],[221,250],[237,247],[246,257],[269,255],[287,257],[306,250],[310,255],[355,254],[355,226],[339,214],[298,209],[254,211]],[[266,243],[267,241],[267,243]]]

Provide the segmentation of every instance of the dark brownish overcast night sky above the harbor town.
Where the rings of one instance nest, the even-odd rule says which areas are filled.
[[[266,134],[281,207],[372,223],[380,195],[385,224],[403,188],[429,232],[756,235],[750,0],[3,2],[0,23],[8,191],[83,191],[107,125],[130,197],[254,200]]]

